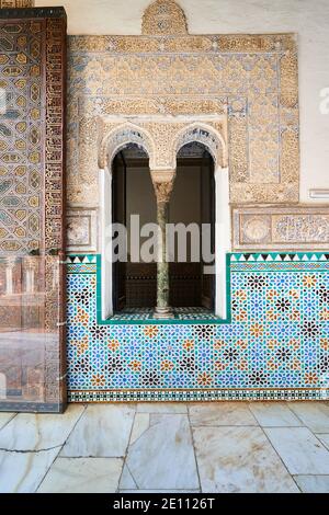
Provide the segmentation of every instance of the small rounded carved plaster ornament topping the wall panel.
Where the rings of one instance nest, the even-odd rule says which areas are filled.
[[[144,13],[141,34],[158,36],[188,34],[184,11],[173,0],[157,0]]]

